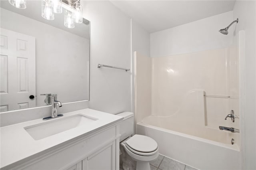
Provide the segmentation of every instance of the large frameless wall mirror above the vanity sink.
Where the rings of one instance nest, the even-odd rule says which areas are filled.
[[[43,94],[62,103],[88,100],[90,22],[67,28],[64,10],[46,20],[41,0],[26,9],[1,0],[0,7],[1,112],[49,105]]]

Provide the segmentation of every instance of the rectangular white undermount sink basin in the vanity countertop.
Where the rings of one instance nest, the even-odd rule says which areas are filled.
[[[34,140],[40,140],[42,138],[76,128],[81,125],[86,125],[96,120],[98,119],[86,117],[84,115],[75,115],[70,117],[56,118],[56,120],[24,127],[24,129],[32,138],[34,138]]]

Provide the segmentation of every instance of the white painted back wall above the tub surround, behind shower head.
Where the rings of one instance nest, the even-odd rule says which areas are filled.
[[[223,35],[218,30],[233,21],[233,12],[190,22],[181,26],[150,34],[150,57],[164,57],[209,49],[229,47],[232,34]],[[232,32],[233,27],[228,30]]]

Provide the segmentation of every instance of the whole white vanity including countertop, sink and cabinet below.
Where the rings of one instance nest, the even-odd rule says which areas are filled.
[[[1,127],[0,170],[119,170],[122,119],[83,109]]]

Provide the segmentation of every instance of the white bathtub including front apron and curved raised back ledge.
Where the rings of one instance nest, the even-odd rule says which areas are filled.
[[[156,114],[159,115],[159,114]],[[240,150],[231,144],[235,133],[208,127],[204,91],[190,91],[170,116],[149,116],[137,123],[137,133],[150,136],[159,153],[201,170],[240,170]]]

